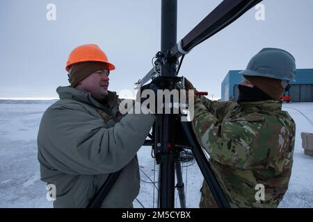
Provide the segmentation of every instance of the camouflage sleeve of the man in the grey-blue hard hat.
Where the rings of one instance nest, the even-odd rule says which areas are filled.
[[[282,169],[278,159],[289,152],[294,134],[282,121],[287,119],[282,111],[267,115],[252,112],[235,117],[234,113],[241,111],[239,105],[232,102],[224,107],[223,117],[214,112],[216,110],[209,112],[200,99],[195,101],[195,134],[213,160],[242,169],[262,166],[265,162],[266,167]],[[228,114],[231,118],[227,118]]]

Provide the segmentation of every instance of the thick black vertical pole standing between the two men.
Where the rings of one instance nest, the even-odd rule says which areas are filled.
[[[168,50],[177,44],[177,0],[161,1],[161,53],[168,58]],[[161,76],[176,76],[176,60],[167,61],[161,67]],[[175,200],[175,154],[172,152],[172,115],[157,114],[155,146],[161,150],[159,178],[159,207],[173,208]],[[161,147],[160,147],[161,146]]]

